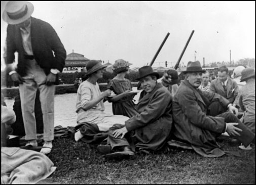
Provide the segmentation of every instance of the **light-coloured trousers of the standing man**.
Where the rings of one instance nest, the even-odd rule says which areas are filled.
[[[46,85],[44,70],[33,60],[26,60],[27,75],[19,85],[21,111],[25,128],[25,140],[36,139],[36,122],[34,103],[36,90],[40,90],[40,102],[43,113],[44,141],[53,141],[54,138],[54,94],[55,86]]]

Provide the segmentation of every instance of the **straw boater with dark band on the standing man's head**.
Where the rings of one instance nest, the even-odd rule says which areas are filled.
[[[3,20],[8,24],[20,24],[27,20],[34,11],[29,2],[10,1],[3,12]]]

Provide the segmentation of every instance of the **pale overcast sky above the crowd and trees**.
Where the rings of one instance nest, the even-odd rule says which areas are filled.
[[[185,65],[255,58],[255,2],[33,2],[32,17],[50,23],[67,54],[114,64],[124,59],[141,67],[174,66],[192,32]],[[6,5],[1,2],[1,15]],[[1,16],[2,17],[2,16]],[[7,23],[1,19],[1,56]],[[196,51],[196,53],[195,53]]]

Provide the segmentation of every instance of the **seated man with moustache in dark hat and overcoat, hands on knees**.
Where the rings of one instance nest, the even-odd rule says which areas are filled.
[[[176,140],[191,144],[204,157],[220,157],[225,153],[216,142],[216,137],[227,131],[246,147],[255,143],[252,133],[233,113],[237,109],[224,97],[198,89],[205,72],[199,61],[189,62],[185,80],[181,82],[173,98],[173,134]],[[207,107],[218,100],[230,112],[215,117],[207,115]]]

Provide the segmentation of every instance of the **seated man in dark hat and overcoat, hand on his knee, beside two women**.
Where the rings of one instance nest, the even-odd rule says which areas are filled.
[[[143,90],[137,104],[138,114],[109,128],[107,143],[97,150],[106,154],[106,159],[123,159],[134,156],[134,152],[162,149],[170,135],[172,126],[172,96],[168,89],[157,83],[159,74],[151,66],[139,68],[137,78]],[[131,146],[134,146],[131,147]]]

